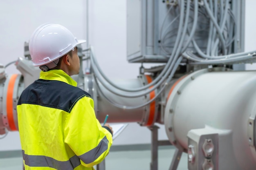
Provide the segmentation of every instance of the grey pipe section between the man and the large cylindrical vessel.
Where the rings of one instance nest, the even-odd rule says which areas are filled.
[[[126,98],[115,95],[108,91],[102,84],[99,83],[99,89],[97,89],[96,82],[92,75],[85,75],[85,87],[84,90],[88,91],[94,99],[94,109],[97,114],[97,118],[100,122],[103,122],[106,115],[109,115],[108,122],[138,122],[141,126],[151,126],[157,120],[159,114],[158,105],[156,102],[152,102],[150,105],[137,108],[137,109],[126,109],[117,108],[110,104],[110,101],[119,103],[124,106],[138,106],[146,103],[152,99],[156,92],[153,91],[142,97]],[[149,84],[152,78],[149,75],[140,75],[137,79],[119,79],[113,82],[117,86],[123,88],[139,88]],[[102,91],[105,98],[99,91]]]

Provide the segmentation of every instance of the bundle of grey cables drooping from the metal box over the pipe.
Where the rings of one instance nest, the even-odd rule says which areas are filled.
[[[161,73],[155,77],[153,82],[140,88],[126,89],[111,82],[99,67],[98,62],[94,57],[93,48],[91,47],[90,60],[92,71],[101,95],[118,108],[136,109],[150,104],[159,97],[166,86],[171,82],[183,57],[191,61],[192,64],[223,64],[254,60],[256,51],[251,53],[230,54],[236,36],[236,20],[229,6],[229,0],[209,0],[209,2],[207,2],[207,0],[193,0],[193,3],[190,0],[179,0],[177,3],[171,4],[159,34],[159,45],[166,54],[168,62]],[[176,12],[179,11],[179,13],[165,27],[165,30],[163,30],[168,13],[172,10],[175,10]],[[199,18],[203,18],[203,20],[199,20]],[[176,24],[176,22],[178,22],[177,28],[169,30],[170,26],[174,23]],[[200,35],[202,32],[202,35],[208,34],[205,52],[198,46],[198,40],[195,40],[195,36]],[[176,36],[174,46],[172,51],[169,51],[167,48],[169,44],[165,44],[165,42],[174,36]],[[187,51],[188,46],[191,44],[193,45],[195,52]],[[108,91],[121,97],[140,97],[147,95],[156,89],[158,92],[153,99],[145,104],[139,106],[123,106],[110,101],[108,97],[102,93],[99,87],[99,82]],[[150,88],[151,86],[153,86],[153,88]]]

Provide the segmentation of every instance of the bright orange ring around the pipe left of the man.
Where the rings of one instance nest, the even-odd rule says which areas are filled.
[[[8,88],[7,88],[7,97],[6,97],[7,98],[6,99],[7,118],[9,122],[9,127],[13,131],[17,130],[14,123],[14,119],[13,119],[13,90],[14,90],[14,84],[17,77],[18,77],[18,74],[11,75]]]

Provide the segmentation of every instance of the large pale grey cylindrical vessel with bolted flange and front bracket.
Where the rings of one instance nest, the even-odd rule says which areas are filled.
[[[205,162],[216,160],[220,170],[255,169],[255,84],[255,71],[204,69],[183,77],[173,85],[165,109],[169,141],[179,150],[189,150],[192,163],[209,166]],[[203,144],[201,137],[213,143],[213,153],[202,152],[210,143]],[[201,152],[205,156],[200,158]],[[217,159],[211,158],[214,153]]]

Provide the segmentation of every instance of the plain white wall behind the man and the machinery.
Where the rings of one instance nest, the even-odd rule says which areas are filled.
[[[86,37],[86,0],[0,1],[0,51],[1,64],[7,64],[23,56],[23,45],[37,26],[56,22],[66,26],[78,39],[88,39],[102,70],[110,79],[135,78],[140,64],[126,60],[126,0],[89,0],[89,37]],[[245,51],[252,51],[256,44],[255,0],[246,0]],[[247,69],[255,69],[249,65]],[[7,74],[19,73],[15,66],[7,68]],[[159,139],[167,139],[160,126]],[[115,139],[115,145],[149,144],[150,130],[136,123]],[[0,139],[0,151],[19,150],[18,132],[9,132]]]

